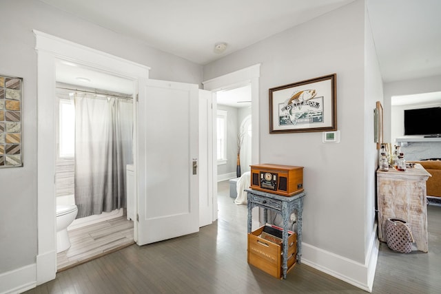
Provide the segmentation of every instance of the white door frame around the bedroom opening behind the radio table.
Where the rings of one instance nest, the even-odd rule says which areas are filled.
[[[220,90],[229,90],[236,87],[241,87],[246,84],[251,84],[251,114],[252,114],[252,164],[258,164],[260,162],[260,131],[259,131],[259,78],[260,78],[260,63],[245,67],[242,70],[236,70],[223,76],[203,81],[204,90],[212,92],[218,92]],[[213,118],[213,132],[216,129],[216,112],[217,104],[216,98],[212,107]],[[214,136],[213,136],[214,137]],[[217,160],[216,154],[213,156],[213,195],[217,197]],[[215,183],[216,181],[216,183]],[[213,201],[214,220],[218,218],[218,206],[217,201]],[[254,216],[253,216],[254,218]]]

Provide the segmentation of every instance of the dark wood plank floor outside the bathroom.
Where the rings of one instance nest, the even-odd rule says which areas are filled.
[[[57,273],[28,293],[366,293],[305,264],[278,280],[247,264],[247,208],[220,183],[218,220],[199,233],[136,244]],[[429,253],[380,246],[372,293],[441,293],[441,207],[429,206]]]

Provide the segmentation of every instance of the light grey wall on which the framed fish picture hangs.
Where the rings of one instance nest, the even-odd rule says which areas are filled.
[[[373,108],[381,100],[378,64],[365,73],[366,63],[376,62],[374,54],[365,60],[369,42],[365,48],[365,2],[355,1],[204,67],[209,80],[261,63],[260,161],[305,167],[303,258],[359,286],[366,273],[354,277],[350,268],[366,266],[375,236]],[[323,144],[320,132],[269,134],[269,88],[334,72],[341,143]],[[365,101],[368,94],[378,98]],[[333,258],[347,264],[333,265]]]

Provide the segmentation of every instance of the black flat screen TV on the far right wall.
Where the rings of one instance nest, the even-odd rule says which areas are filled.
[[[441,107],[404,110],[404,135],[441,136]]]

